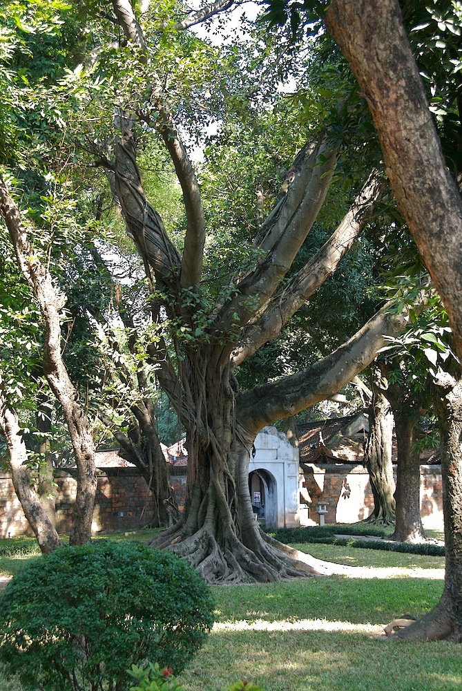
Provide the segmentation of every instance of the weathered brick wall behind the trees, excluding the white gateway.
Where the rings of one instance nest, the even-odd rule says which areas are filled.
[[[170,482],[180,511],[184,508],[187,468],[170,468]],[[57,471],[57,528],[68,533],[77,483],[75,471]],[[310,466],[305,474],[309,518],[317,521],[316,502],[328,502],[326,522],[352,523],[367,518],[374,508],[369,476],[363,466]],[[441,469],[421,466],[421,514],[424,527],[443,527]],[[153,497],[136,468],[98,470],[94,531],[143,527],[153,515]],[[0,538],[30,533],[10,475],[0,473]]]

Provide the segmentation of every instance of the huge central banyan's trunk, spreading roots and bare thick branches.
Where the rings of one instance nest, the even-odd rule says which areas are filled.
[[[153,545],[187,558],[210,583],[328,573],[327,565],[262,533],[253,519],[248,484],[253,441],[264,426],[313,406],[351,381],[374,359],[384,337],[402,328],[404,316],[392,314],[385,305],[313,366],[251,390],[240,390],[236,372],[280,336],[336,270],[373,214],[381,183],[368,176],[329,240],[300,262],[300,250],[325,202],[339,155],[338,141],[329,135],[307,141],[285,175],[273,208],[256,224],[249,245],[253,264],[247,263],[228,285],[211,293],[204,275],[206,222],[200,184],[151,64],[150,35],[128,0],[113,1],[113,18],[119,38],[137,50],[139,65],[151,82],[146,83],[146,102],[132,111],[115,111],[115,144],[99,161],[151,283],[156,328],[148,355],[186,429],[189,453],[184,512]],[[198,15],[191,15],[177,28],[196,19]],[[137,142],[146,131],[157,131],[162,138],[182,188],[182,252],[151,206],[137,167]]]

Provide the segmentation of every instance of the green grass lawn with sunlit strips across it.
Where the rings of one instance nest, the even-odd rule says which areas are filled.
[[[121,536],[126,538],[136,539]],[[401,571],[389,578],[331,576],[213,587],[217,623],[180,675],[185,691],[220,691],[241,676],[265,691],[462,688],[460,645],[375,636],[397,616],[418,616],[434,607],[443,590],[443,558],[338,545],[293,546],[338,563]],[[0,563],[0,568],[6,566]],[[0,691],[21,691],[11,684],[0,675]]]

